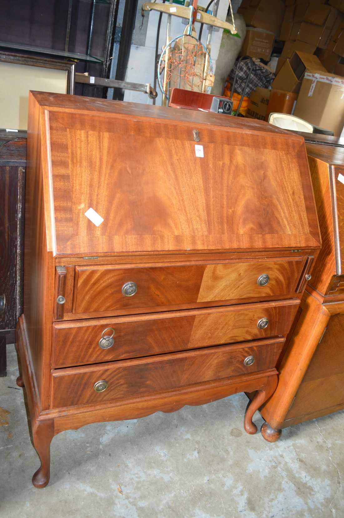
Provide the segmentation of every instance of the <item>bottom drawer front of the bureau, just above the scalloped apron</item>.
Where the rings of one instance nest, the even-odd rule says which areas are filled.
[[[118,401],[274,368],[283,338],[52,371],[52,408]],[[245,366],[248,356],[255,362]],[[108,383],[96,392],[100,380]]]

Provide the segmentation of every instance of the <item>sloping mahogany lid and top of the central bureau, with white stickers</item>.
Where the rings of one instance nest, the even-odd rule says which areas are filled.
[[[34,93],[29,113],[42,126],[54,254],[319,247],[300,136],[261,121],[58,94]]]

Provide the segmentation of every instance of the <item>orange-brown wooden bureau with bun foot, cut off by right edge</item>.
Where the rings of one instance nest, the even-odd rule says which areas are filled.
[[[262,434],[344,408],[344,148],[307,143],[322,249],[301,301]]]

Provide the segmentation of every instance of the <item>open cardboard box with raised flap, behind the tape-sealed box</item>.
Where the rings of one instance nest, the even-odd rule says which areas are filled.
[[[294,52],[291,58],[279,70],[272,82],[272,88],[274,90],[298,93],[303,76],[308,68],[327,73],[327,70],[322,66],[317,56],[305,54],[304,52]]]

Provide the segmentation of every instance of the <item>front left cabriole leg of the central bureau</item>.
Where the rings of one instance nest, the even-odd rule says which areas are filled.
[[[50,478],[50,443],[54,437],[54,420],[36,421],[33,424],[33,438],[41,466],[32,477],[35,487],[46,487]]]

